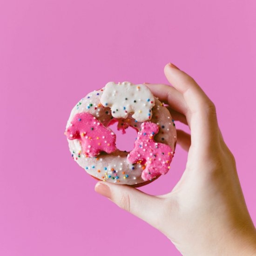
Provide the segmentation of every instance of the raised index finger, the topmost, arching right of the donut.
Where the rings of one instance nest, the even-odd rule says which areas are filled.
[[[186,118],[191,129],[191,143],[204,150],[204,146],[216,143],[218,125],[216,110],[212,101],[199,85],[185,72],[172,64],[164,68],[164,73],[173,87],[179,91],[186,102]]]

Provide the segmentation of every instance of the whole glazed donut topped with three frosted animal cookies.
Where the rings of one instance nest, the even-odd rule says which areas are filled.
[[[116,135],[128,127],[138,135],[130,152],[116,148]],[[170,169],[176,129],[168,109],[144,85],[108,82],[81,99],[71,111],[65,130],[75,162],[97,180],[146,185]]]

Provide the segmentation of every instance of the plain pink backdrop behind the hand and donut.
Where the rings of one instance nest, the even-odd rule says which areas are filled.
[[[255,0],[0,0],[0,255],[180,255],[94,192],[63,134],[88,92],[166,83],[169,61],[216,103],[256,223],[255,13]],[[168,175],[143,190],[170,191],[186,156],[178,147]]]

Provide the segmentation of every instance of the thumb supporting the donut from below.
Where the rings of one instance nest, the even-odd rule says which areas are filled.
[[[128,185],[117,185],[107,182],[98,182],[95,191],[108,197],[120,208],[141,218],[155,228],[159,228],[159,217],[163,198],[148,195]]]

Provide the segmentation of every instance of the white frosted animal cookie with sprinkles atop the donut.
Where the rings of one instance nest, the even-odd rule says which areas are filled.
[[[101,95],[101,104],[111,108],[115,118],[127,118],[129,113],[139,122],[152,118],[155,98],[147,86],[135,85],[130,82],[108,82]]]

